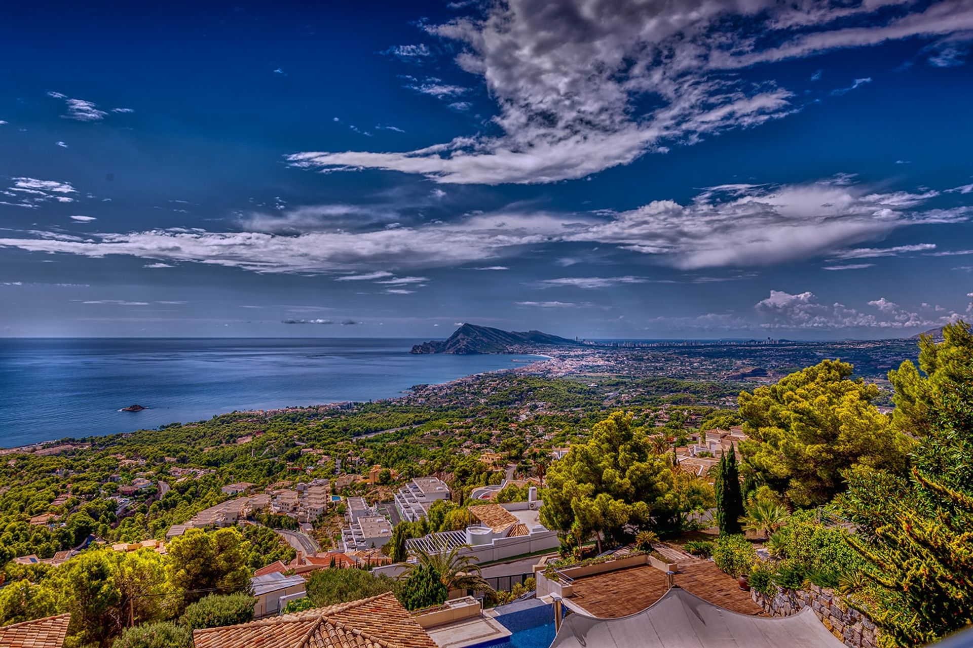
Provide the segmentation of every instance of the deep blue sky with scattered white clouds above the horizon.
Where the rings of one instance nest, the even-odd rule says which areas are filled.
[[[16,3],[0,336],[973,317],[973,0]]]

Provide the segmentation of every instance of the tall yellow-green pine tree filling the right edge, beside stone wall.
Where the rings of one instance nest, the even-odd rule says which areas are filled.
[[[883,645],[925,645],[973,624],[973,331],[957,322],[943,337],[922,336],[919,368],[889,373],[893,423],[919,437],[909,479],[846,473],[843,513],[859,529],[848,542],[874,584],[857,606]]]

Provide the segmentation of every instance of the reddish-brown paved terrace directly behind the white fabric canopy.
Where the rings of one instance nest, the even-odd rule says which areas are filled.
[[[720,607],[754,616],[769,616],[741,592],[737,579],[709,561],[679,563],[676,585]],[[579,578],[568,604],[576,603],[596,617],[613,619],[644,610],[667,592],[666,574],[650,564]]]

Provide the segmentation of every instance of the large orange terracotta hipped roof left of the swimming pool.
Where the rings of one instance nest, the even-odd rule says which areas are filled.
[[[196,648],[436,648],[391,593],[193,632]]]

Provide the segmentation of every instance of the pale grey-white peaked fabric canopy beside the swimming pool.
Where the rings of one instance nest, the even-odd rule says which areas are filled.
[[[805,608],[788,617],[731,612],[673,587],[627,617],[570,614],[551,648],[844,648]]]

